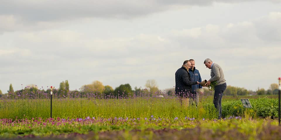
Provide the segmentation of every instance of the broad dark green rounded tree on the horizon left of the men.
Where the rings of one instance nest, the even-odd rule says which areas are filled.
[[[133,91],[130,84],[120,85],[116,87],[114,90],[114,96],[117,98],[125,97],[125,96],[133,96]]]

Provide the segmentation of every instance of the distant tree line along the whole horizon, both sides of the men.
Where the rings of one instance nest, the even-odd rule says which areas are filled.
[[[205,93],[210,93],[207,88],[203,88]],[[50,88],[47,88],[47,90],[44,90],[43,87],[38,89],[37,85],[27,85],[26,87],[22,87],[21,90],[14,91],[12,84],[9,86],[9,90],[7,91],[7,94],[14,95],[21,97],[21,95],[29,94],[30,96],[34,95],[37,97],[46,96],[44,93],[50,93]],[[67,97],[69,96],[69,92],[75,92],[76,94],[72,94],[73,97],[79,96],[79,97],[87,97],[89,94],[95,94],[95,95],[103,95],[107,97],[129,97],[129,96],[140,96],[140,94],[149,94],[150,96],[153,96],[153,94],[158,95],[169,95],[172,96],[174,94],[174,88],[165,89],[163,92],[159,91],[158,85],[155,80],[150,79],[147,80],[145,83],[145,88],[141,89],[141,87],[135,87],[132,89],[131,85],[121,84],[115,89],[113,89],[109,85],[103,85],[100,81],[93,81],[91,84],[83,85],[80,89],[76,89],[73,91],[69,90],[69,83],[68,80],[62,81],[59,84],[58,89],[53,89],[53,94],[55,94],[57,97]],[[0,90],[0,97],[4,97],[7,94],[3,94]],[[264,88],[258,88],[256,91],[247,90],[245,88],[239,88],[234,87],[231,85],[228,85],[224,95],[229,96],[240,96],[240,95],[277,95],[278,94],[278,84],[273,83],[270,85],[268,90],[265,90]]]

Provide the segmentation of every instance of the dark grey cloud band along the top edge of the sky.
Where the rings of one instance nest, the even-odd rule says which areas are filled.
[[[279,0],[271,1],[278,2]],[[245,0],[4,0],[0,5],[0,15],[14,15],[18,19],[35,22],[71,20],[84,17],[133,18],[168,10],[171,6],[205,6],[214,2],[233,3],[245,2]]]

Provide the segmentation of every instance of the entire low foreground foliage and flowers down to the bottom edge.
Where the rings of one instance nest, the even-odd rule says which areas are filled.
[[[35,139],[233,139],[234,137],[235,139],[279,139],[279,129],[277,121],[236,118],[227,120],[190,120],[180,117],[178,119],[148,117],[146,120],[145,118],[0,120],[2,139],[22,137],[31,139],[31,136],[37,136]]]

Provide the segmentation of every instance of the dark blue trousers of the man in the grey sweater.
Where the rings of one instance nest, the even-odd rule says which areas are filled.
[[[222,93],[225,91],[225,89],[226,89],[226,83],[215,86],[213,103],[215,105],[215,108],[217,108],[217,111],[219,112],[218,115],[219,119],[222,117]]]

